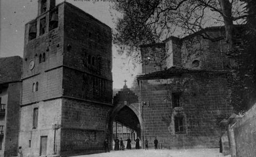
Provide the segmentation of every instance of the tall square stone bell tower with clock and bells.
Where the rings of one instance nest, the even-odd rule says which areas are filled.
[[[38,1],[25,26],[23,155],[97,153],[112,108],[111,29],[67,2]]]

